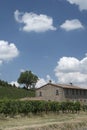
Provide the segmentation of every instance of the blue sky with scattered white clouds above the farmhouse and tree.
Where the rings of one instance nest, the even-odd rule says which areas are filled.
[[[0,79],[87,86],[87,0],[0,0]]]

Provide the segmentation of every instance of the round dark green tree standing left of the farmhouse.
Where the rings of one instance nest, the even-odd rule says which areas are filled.
[[[18,83],[25,84],[25,87],[28,88],[35,88],[36,82],[38,81],[38,77],[33,74],[31,71],[21,72]]]

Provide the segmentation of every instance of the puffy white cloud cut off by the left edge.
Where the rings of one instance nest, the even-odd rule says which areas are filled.
[[[0,40],[0,64],[3,61],[9,61],[17,57],[19,51],[14,43],[8,43],[7,41]]]

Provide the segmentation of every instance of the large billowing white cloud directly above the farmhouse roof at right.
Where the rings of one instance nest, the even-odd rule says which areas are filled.
[[[62,57],[55,68],[60,83],[74,83],[87,87],[87,57],[78,60],[75,57]]]

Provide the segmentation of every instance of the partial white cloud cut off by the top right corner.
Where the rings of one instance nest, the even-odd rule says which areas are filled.
[[[87,0],[67,0],[70,4],[76,4],[79,6],[79,9],[87,10]]]

